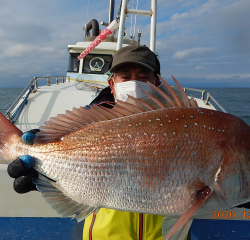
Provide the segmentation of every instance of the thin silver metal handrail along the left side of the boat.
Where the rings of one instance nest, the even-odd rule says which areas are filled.
[[[55,76],[55,77],[34,77],[28,85],[24,88],[24,90],[19,94],[15,102],[9,107],[9,109],[5,112],[5,116],[8,119],[11,119],[11,113],[17,106],[17,104],[20,102],[20,100],[25,96],[26,92],[30,89],[31,86],[33,86],[33,91],[38,88],[38,79],[48,79],[47,86],[50,86],[50,79],[56,78],[56,84],[58,84],[58,78],[62,78],[62,82],[64,83],[64,78],[68,79],[70,81],[69,76]],[[49,83],[49,84],[48,84]]]

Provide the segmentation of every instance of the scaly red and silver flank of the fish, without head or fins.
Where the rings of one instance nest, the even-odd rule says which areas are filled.
[[[197,113],[196,109],[188,110]],[[216,148],[211,146],[213,148],[206,151],[209,142],[200,142],[200,139],[205,142],[208,136],[211,139],[212,128],[198,138],[197,134],[193,134],[193,128],[203,128],[201,124],[195,124],[202,115],[190,116],[186,120],[183,109],[176,111],[168,108],[141,115],[150,118],[150,126],[144,128],[149,120],[133,115],[95,123],[92,127],[65,136],[63,147],[60,142],[53,143],[54,151],[49,153],[50,160],[42,161],[42,158],[46,159],[46,151],[42,151],[43,157],[39,156],[35,169],[56,180],[66,195],[83,204],[125,211],[146,210],[153,214],[164,214],[166,209],[172,209],[172,214],[182,213],[194,201],[199,190],[187,190],[192,187],[193,177],[199,177],[205,185],[212,185],[219,167],[220,162],[211,164],[211,155]],[[162,118],[162,115],[168,117]],[[115,127],[117,123],[121,128]],[[159,130],[160,124],[166,127],[161,126]],[[180,125],[183,127],[178,128]],[[188,125],[188,130],[185,125]],[[131,129],[129,134],[125,130],[127,127]],[[164,133],[167,134],[165,138]],[[222,135],[222,132],[216,133],[213,134],[214,139]],[[82,139],[86,142],[82,143]],[[117,146],[116,143],[120,141],[122,144]],[[162,142],[160,147],[159,142]],[[36,157],[32,151],[29,154]],[[203,163],[200,161],[203,157],[210,161]],[[155,171],[156,166],[158,171]],[[60,175],[58,172],[55,174],[57,169],[60,169]],[[138,194],[138,189],[141,194]],[[166,201],[164,195],[155,193],[155,190],[160,189],[165,189],[165,194],[170,194],[171,198]],[[125,196],[122,199],[126,201],[118,202],[121,196]],[[187,203],[186,199],[190,199],[190,202]],[[154,206],[156,202],[157,208]],[[174,207],[176,202],[181,203],[178,208]]]

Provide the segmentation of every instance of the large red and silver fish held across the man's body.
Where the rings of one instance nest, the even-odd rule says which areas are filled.
[[[151,86],[144,101],[51,118],[32,146],[1,115],[0,163],[31,155],[43,175],[37,188],[63,216],[81,220],[101,207],[181,216],[166,236],[183,226],[181,239],[194,213],[250,201],[250,127],[162,81],[165,90]]]

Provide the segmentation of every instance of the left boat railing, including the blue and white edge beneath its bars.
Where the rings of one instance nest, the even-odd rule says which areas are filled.
[[[36,89],[38,89],[38,80],[39,79],[47,79],[47,86],[50,86],[50,79],[55,78],[56,84],[59,83],[59,79],[62,79],[62,83],[65,82],[65,79],[67,81],[70,81],[69,76],[52,76],[52,77],[34,77],[28,85],[23,89],[23,91],[19,94],[15,102],[9,107],[9,109],[6,111],[5,116],[7,119],[9,119],[12,123],[15,123],[18,119],[23,107],[28,102],[28,97],[31,92],[36,92]]]

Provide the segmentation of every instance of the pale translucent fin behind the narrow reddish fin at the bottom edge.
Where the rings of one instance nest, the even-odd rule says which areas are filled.
[[[165,236],[170,229],[174,226],[174,224],[178,221],[179,216],[167,216],[162,219],[162,236]],[[177,230],[173,236],[170,238],[171,240],[184,240],[188,234],[188,230],[193,222],[193,218],[190,218],[183,226]]]

